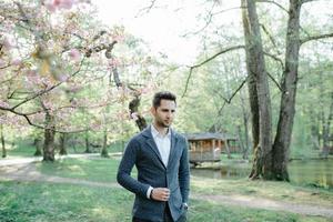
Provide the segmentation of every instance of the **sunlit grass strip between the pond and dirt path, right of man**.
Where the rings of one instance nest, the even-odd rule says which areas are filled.
[[[300,186],[286,182],[192,179],[192,190],[203,194],[248,195],[333,209],[333,192],[322,188]]]

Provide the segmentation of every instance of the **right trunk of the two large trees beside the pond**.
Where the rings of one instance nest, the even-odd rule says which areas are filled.
[[[287,162],[295,114],[300,52],[300,11],[302,2],[290,0],[286,31],[285,68],[282,78],[282,94],[276,135],[273,144],[274,174],[276,180],[289,181]]]

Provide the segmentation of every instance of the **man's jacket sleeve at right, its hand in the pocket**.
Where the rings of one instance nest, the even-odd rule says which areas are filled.
[[[189,143],[186,139],[183,138],[183,140],[185,145],[182,152],[182,157],[180,159],[179,184],[183,203],[188,203],[190,193]]]

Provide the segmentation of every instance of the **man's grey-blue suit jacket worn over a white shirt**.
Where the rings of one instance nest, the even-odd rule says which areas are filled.
[[[168,167],[162,162],[159,149],[151,134],[151,127],[133,137],[127,145],[120,162],[117,180],[135,194],[133,216],[150,221],[163,221],[165,204],[176,221],[185,211],[190,186],[188,141],[171,130],[171,149]],[[133,165],[138,169],[138,180],[131,176]],[[148,189],[168,188],[168,202],[147,198]]]

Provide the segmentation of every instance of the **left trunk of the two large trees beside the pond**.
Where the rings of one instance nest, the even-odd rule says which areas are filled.
[[[272,179],[272,114],[271,98],[260,26],[254,0],[242,0],[245,37],[246,68],[249,73],[250,103],[253,120],[253,168],[250,178]],[[253,82],[254,81],[254,82]],[[255,84],[255,85],[254,85]],[[254,90],[255,87],[255,90]],[[255,94],[253,94],[256,92]],[[253,108],[252,108],[253,107]],[[259,117],[255,117],[258,115]],[[255,119],[253,119],[255,117]],[[260,149],[260,152],[259,152]]]

